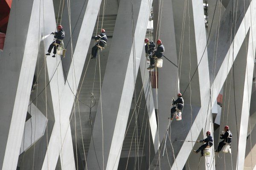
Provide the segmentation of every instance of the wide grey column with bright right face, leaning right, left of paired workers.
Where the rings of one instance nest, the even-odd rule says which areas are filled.
[[[136,78],[134,76],[137,75],[140,65],[140,57],[144,49],[143,40],[150,12],[148,0],[132,2],[133,22],[131,2],[121,0],[119,4],[101,91],[101,101],[103,102],[99,103],[98,106],[93,126],[94,143],[91,140],[87,157],[88,169],[98,169],[100,167],[107,170],[116,170],[118,167],[126,129],[125,125],[127,124],[134,93],[134,78]],[[134,23],[134,36],[132,34],[132,23]],[[134,51],[135,55],[133,54]],[[113,82],[115,82],[114,85]]]

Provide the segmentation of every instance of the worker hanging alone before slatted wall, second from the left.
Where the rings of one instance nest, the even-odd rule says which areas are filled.
[[[93,46],[92,48],[92,53],[91,55],[93,57],[91,57],[91,59],[95,59],[97,58],[97,52],[100,49],[104,48],[104,46],[107,44],[108,38],[105,34],[105,29],[101,30],[101,34],[99,34],[98,36],[95,37],[95,40],[98,41],[96,43],[96,45]]]

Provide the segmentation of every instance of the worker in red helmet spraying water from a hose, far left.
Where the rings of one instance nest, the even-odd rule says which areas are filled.
[[[61,25],[57,26],[57,30],[58,30],[58,32],[51,33],[52,35],[54,35],[55,40],[49,46],[48,53],[46,54],[47,56],[49,56],[51,54],[51,51],[53,48],[53,56],[52,57],[55,57],[56,49],[58,48],[59,45],[61,45],[61,42],[63,41],[63,39],[65,37],[65,32],[63,31]]]

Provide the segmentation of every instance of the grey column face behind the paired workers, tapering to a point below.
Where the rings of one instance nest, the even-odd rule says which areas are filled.
[[[162,8],[163,7],[163,8]],[[155,6],[154,6],[155,8]],[[157,8],[157,7],[156,7]],[[162,14],[161,14],[162,13]],[[156,14],[156,13],[154,13]],[[158,12],[157,12],[158,14]],[[155,30],[158,30],[157,38],[162,40],[165,46],[164,56],[171,60],[175,65],[177,63],[177,51],[175,41],[175,28],[172,11],[172,1],[161,1],[159,9],[158,27],[154,26]],[[169,16],[169,17],[166,17]],[[154,23],[157,23],[157,18],[154,15]],[[154,35],[154,37],[156,37]],[[177,82],[178,68],[169,62],[165,57],[163,59],[163,67],[157,69],[158,72],[158,84],[157,84],[157,109],[158,109],[158,130],[160,142],[163,140],[166,129],[169,123],[168,117],[170,117],[170,107],[172,104],[172,97],[176,98],[179,92]]]

